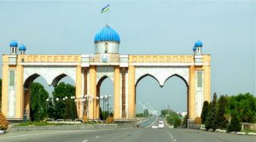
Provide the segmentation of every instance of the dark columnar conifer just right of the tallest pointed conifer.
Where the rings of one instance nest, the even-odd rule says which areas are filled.
[[[217,122],[218,128],[226,128],[228,120],[225,116],[227,107],[227,96],[221,95],[218,99],[218,109],[217,109]]]

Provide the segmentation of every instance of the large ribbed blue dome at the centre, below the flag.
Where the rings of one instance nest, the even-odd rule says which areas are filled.
[[[96,33],[96,36],[94,38],[95,43],[100,41],[113,41],[120,43],[120,37],[119,34],[114,31],[110,26],[105,26],[102,28],[101,31]]]

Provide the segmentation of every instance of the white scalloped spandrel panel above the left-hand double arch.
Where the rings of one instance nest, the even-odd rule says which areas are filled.
[[[55,84],[62,77],[69,76],[76,81],[76,68],[75,67],[60,67],[60,66],[25,66],[24,67],[24,79],[23,83],[26,82],[28,77],[34,74],[38,74],[44,77],[48,85]]]

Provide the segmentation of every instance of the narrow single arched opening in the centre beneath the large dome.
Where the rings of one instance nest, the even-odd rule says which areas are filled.
[[[102,77],[96,86],[96,118],[105,120],[108,116],[113,116],[113,81],[107,77]]]

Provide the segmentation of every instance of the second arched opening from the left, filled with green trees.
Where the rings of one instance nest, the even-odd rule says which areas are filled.
[[[82,99],[75,97],[75,82],[66,74],[53,79],[53,92],[48,100],[49,117],[54,119],[78,118]]]

